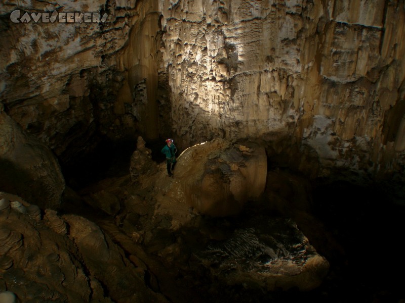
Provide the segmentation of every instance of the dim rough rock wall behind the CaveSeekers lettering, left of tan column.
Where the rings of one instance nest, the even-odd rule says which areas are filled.
[[[0,102],[64,162],[92,148],[96,135],[136,138],[137,115],[119,94],[126,68],[110,61],[143,19],[135,7],[135,0],[0,5]],[[57,10],[105,13],[108,18],[104,23],[13,23],[10,14],[17,9],[21,16]]]

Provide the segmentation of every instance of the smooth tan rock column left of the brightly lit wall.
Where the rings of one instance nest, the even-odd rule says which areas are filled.
[[[156,49],[160,39],[157,1],[138,3],[137,11],[138,20],[131,29],[126,47],[117,58],[118,69],[126,74],[117,102],[134,103],[140,132],[146,139],[156,139],[159,136]]]

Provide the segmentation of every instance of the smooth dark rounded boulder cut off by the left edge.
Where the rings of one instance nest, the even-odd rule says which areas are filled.
[[[65,180],[51,149],[0,112],[0,189],[41,208],[56,209]]]

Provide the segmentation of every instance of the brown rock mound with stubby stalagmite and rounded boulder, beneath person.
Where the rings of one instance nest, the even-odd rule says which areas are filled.
[[[93,208],[117,216],[119,224],[140,237],[138,232],[145,231],[142,226],[151,222],[177,230],[197,214],[237,215],[247,201],[257,200],[264,192],[266,169],[263,147],[215,139],[183,151],[177,158],[174,178],[168,178],[166,164],[156,164],[139,137],[131,158],[132,185],[128,186],[125,177],[99,182],[83,198]],[[123,186],[127,194],[123,194]]]

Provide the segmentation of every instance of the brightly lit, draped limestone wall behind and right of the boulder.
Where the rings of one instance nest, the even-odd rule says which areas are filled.
[[[322,167],[403,168],[403,1],[180,0],[160,9],[178,142],[288,137]]]

